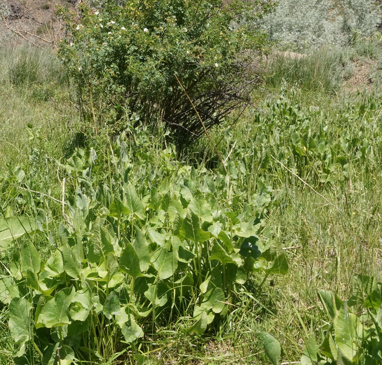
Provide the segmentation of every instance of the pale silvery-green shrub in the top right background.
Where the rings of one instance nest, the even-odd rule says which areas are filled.
[[[262,26],[283,49],[304,51],[346,45],[355,34],[370,35],[378,22],[373,0],[280,0]]]

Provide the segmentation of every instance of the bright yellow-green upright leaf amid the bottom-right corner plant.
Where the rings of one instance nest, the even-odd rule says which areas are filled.
[[[334,318],[335,342],[341,350],[342,357],[352,362],[357,354],[355,318],[349,313],[347,302],[344,301]]]

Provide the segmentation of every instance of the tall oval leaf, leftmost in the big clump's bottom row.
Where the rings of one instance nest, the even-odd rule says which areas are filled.
[[[15,344],[20,346],[17,356],[25,352],[25,344],[30,340],[30,303],[24,298],[13,298],[9,303],[8,327]]]

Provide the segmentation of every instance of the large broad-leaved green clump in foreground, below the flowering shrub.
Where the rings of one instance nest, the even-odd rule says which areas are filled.
[[[286,255],[276,256],[260,235],[266,189],[233,202],[237,176],[181,165],[173,147],[152,160],[140,133],[136,143],[133,167],[119,140],[109,181],[98,179],[103,160],[95,150],[77,149],[63,166],[77,188],[50,253],[25,239],[13,254],[0,295],[17,361],[32,347],[46,363],[109,361],[123,343],[175,322],[201,336],[227,316],[246,283],[287,272]],[[35,226],[16,228],[3,249]]]

